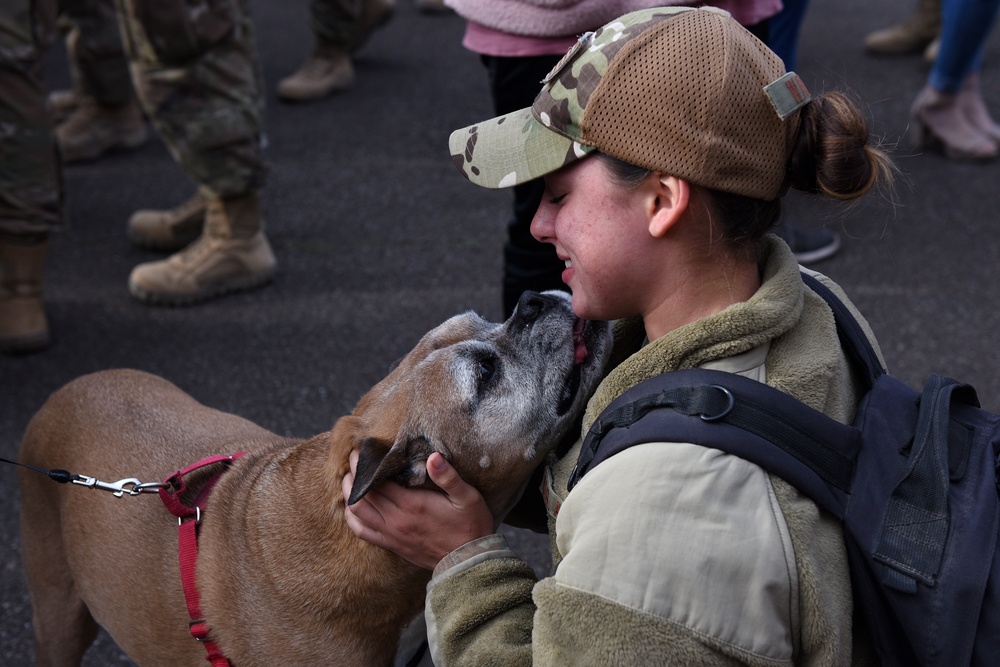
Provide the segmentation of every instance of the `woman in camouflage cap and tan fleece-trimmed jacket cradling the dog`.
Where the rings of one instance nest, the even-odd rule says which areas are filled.
[[[627,388],[696,366],[850,421],[857,388],[831,313],[767,232],[789,185],[853,199],[891,166],[845,97],[810,101],[728,14],[620,17],[581,38],[531,109],[451,148],[486,187],[544,177],[533,234],[564,260],[577,315],[618,320],[584,432]],[[353,506],[360,537],[434,568],[435,664],[865,660],[841,528],[790,485],[696,444],[647,443],[567,492],[578,455],[579,442],[545,470],[541,581],[443,457],[428,462],[440,492],[385,485]]]

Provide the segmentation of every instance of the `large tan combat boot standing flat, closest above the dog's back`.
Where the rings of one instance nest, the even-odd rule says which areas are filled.
[[[210,197],[198,240],[165,260],[135,267],[128,288],[145,303],[183,306],[264,285],[276,266],[263,232],[260,197]]]

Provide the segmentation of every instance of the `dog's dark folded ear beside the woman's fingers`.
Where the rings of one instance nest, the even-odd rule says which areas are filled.
[[[348,505],[358,502],[372,487],[387,479],[403,486],[419,486],[427,480],[427,457],[434,448],[423,436],[395,444],[365,438],[359,445],[358,469]]]

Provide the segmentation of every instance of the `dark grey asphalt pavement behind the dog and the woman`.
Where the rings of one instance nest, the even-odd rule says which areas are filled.
[[[393,20],[358,53],[356,85],[298,105],[278,102],[274,86],[311,46],[306,3],[252,2],[268,87],[264,214],[280,264],[272,285],[188,308],[134,301],[129,271],[160,255],[130,244],[126,219],[180,203],[194,185],[157,140],[65,168],[70,224],[52,240],[45,285],[55,340],[38,354],[0,356],[0,456],[16,456],[51,392],[118,367],[162,375],[277,433],[313,435],[439,322],[469,309],[500,317],[510,194],[469,184],[447,149],[451,130],[492,115],[485,72],[461,46],[460,18],[397,2]],[[842,250],[813,268],[851,294],[897,376],[919,386],[932,372],[950,375],[1000,410],[1000,162],[956,164],[911,150],[908,109],[927,66],[916,55],[873,58],[863,49],[867,32],[913,6],[813,0],[797,70],[814,92],[848,88],[867,105],[901,176],[894,195],[849,209],[793,194],[787,219],[841,235]],[[996,32],[983,83],[1000,117]],[[68,85],[61,48],[47,72],[53,88]],[[33,659],[17,513],[16,473],[0,464],[0,663],[10,666]],[[543,538],[518,532],[513,540],[545,568]],[[102,635],[84,664],[131,663]]]

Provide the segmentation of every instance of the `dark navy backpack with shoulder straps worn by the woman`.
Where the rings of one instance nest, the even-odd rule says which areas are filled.
[[[634,444],[691,442],[776,474],[843,522],[855,615],[884,665],[1000,660],[1000,415],[934,375],[918,392],[886,373],[857,320],[834,312],[867,392],[841,424],[762,382],[692,369],[650,378],[587,433],[569,488]]]

